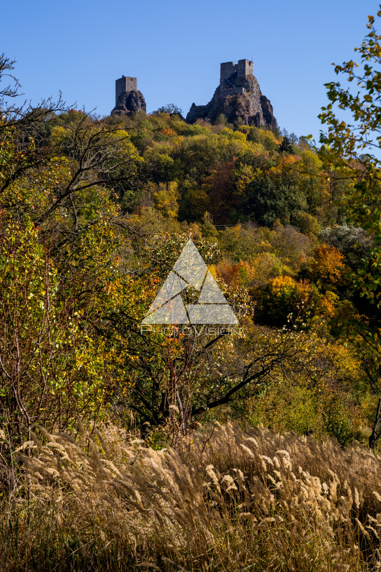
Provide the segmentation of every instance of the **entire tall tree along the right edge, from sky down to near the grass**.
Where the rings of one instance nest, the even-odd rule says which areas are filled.
[[[381,6],[377,15],[381,17]],[[354,343],[368,353],[368,359],[364,362],[364,366],[367,364],[364,367],[364,377],[378,399],[369,440],[371,448],[381,438],[378,367],[381,325],[381,36],[374,24],[375,18],[369,16],[368,33],[362,45],[355,49],[360,56],[360,63],[351,59],[335,66],[336,74],[344,74],[350,84],[356,83],[356,90],[352,92],[351,86],[343,88],[339,82],[326,84],[330,103],[322,108],[319,116],[322,124],[327,125],[327,133],[320,133],[322,146],[319,156],[322,164],[324,168],[334,170],[339,177],[352,179],[350,197],[343,201],[347,221],[361,227],[369,235],[368,240],[364,240],[364,236],[360,236],[359,241],[352,240],[356,248],[363,250],[363,256],[361,260],[354,260],[353,268],[348,269],[347,276],[356,293],[374,305],[375,309],[370,311],[367,308],[367,320],[360,319],[359,316],[343,315],[338,319],[337,326],[345,343]],[[336,116],[336,107],[347,112],[347,116],[351,117],[350,122]],[[343,240],[340,242],[345,243],[344,237],[341,238]],[[351,254],[347,252],[348,257]]]

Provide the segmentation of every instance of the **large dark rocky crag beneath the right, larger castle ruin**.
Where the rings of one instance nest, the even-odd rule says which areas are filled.
[[[194,123],[202,118],[214,122],[221,113],[229,123],[235,123],[240,117],[246,125],[276,126],[270,100],[262,95],[254,76],[229,78],[223,87],[218,86],[207,105],[192,104],[186,121]]]

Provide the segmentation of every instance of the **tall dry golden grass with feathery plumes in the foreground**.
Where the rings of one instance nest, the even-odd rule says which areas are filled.
[[[81,431],[21,455],[2,569],[379,569],[381,458],[360,447],[228,424],[154,451],[115,427]]]

